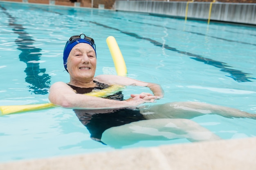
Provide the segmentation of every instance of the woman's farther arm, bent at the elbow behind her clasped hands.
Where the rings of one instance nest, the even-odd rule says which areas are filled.
[[[118,75],[98,75],[94,80],[106,84],[119,84],[123,86],[143,86],[148,87],[153,95],[158,97],[164,97],[164,91],[159,84],[142,82],[129,77],[122,77]]]

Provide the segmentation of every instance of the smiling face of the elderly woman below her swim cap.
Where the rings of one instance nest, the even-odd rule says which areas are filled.
[[[96,54],[92,46],[86,43],[76,44],[67,58],[70,84],[81,86],[92,83],[96,63]]]

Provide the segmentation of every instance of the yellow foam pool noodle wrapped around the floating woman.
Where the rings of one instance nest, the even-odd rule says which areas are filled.
[[[127,68],[124,62],[124,57],[119,49],[117,41],[113,36],[109,36],[106,40],[108,48],[110,50],[112,60],[115,64],[117,75],[126,76]],[[86,93],[85,95],[95,96],[95,97],[106,97],[112,95],[119,91],[123,86],[113,85],[109,88],[102,89],[100,91]],[[7,115],[11,113],[25,112],[31,110],[39,110],[44,108],[58,107],[52,103],[44,104],[27,104],[27,105],[11,105],[11,106],[0,106],[0,111],[2,115]],[[1,114],[0,114],[1,115]]]

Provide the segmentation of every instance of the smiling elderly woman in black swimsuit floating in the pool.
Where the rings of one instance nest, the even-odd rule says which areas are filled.
[[[54,83],[49,91],[49,100],[64,108],[73,108],[79,120],[90,131],[91,138],[97,141],[101,141],[104,132],[112,134],[108,136],[113,136],[114,133],[117,133],[116,136],[122,136],[126,132],[125,137],[135,140],[129,136],[132,135],[132,127],[137,126],[144,127],[144,130],[147,128],[157,130],[164,128],[167,136],[166,133],[165,135],[159,133],[159,136],[164,139],[214,140],[219,139],[219,137],[189,119],[204,114],[218,114],[229,118],[254,117],[255,119],[254,114],[199,102],[173,102],[150,107],[139,106],[147,102],[155,102],[156,99],[163,97],[164,92],[161,86],[117,75],[94,77],[97,63],[96,46],[94,40],[84,34],[72,36],[67,41],[63,52],[63,63],[70,75],[70,82]],[[148,87],[153,94],[131,94],[130,98],[126,100],[123,99],[121,91],[105,98],[83,95],[91,91],[108,88],[113,84],[144,86]],[[173,129],[175,130],[173,131]],[[140,135],[141,140],[151,139],[147,135],[145,137],[145,131],[136,132],[136,134],[140,133],[144,134],[143,137]],[[105,138],[106,141],[110,141],[108,137]],[[103,142],[106,143],[106,141]],[[135,141],[130,141],[130,143]]]

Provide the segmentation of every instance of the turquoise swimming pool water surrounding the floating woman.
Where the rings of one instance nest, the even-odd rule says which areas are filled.
[[[252,26],[187,21],[138,13],[0,2],[0,105],[48,102],[49,86],[68,82],[65,42],[85,33],[97,45],[98,74],[115,74],[106,44],[114,36],[128,76],[161,84],[157,103],[199,101],[256,113],[256,31]],[[145,91],[126,88],[124,95]],[[253,119],[192,119],[223,139],[256,136]],[[72,109],[0,117],[0,161],[54,157],[114,148],[90,139]],[[189,142],[138,141],[122,148]]]

